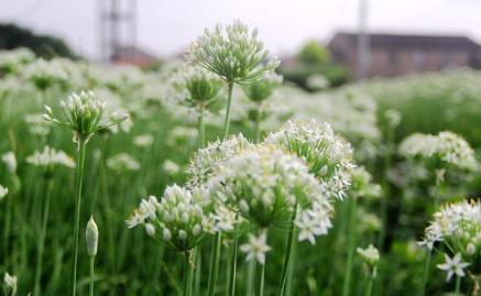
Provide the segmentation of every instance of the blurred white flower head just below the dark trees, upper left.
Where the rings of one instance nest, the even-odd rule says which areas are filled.
[[[65,84],[68,80],[68,73],[55,59],[45,61],[37,58],[25,67],[22,74],[41,90],[55,84]]]

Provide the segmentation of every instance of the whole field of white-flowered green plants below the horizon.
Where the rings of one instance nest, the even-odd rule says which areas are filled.
[[[481,73],[278,64],[240,22],[151,72],[0,52],[3,295],[480,295]]]

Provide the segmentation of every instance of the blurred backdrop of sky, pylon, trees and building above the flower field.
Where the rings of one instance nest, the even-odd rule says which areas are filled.
[[[286,80],[481,67],[478,0],[3,0],[0,48],[156,67],[205,28],[240,19],[283,61]],[[360,57],[360,58],[359,58]]]

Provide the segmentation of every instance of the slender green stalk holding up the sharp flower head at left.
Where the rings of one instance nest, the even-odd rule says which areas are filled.
[[[84,163],[85,163],[85,139],[78,140],[78,156],[77,156],[77,182],[76,182],[76,202],[74,216],[74,240],[72,244],[72,271],[70,271],[70,295],[75,296],[77,290],[77,263],[78,263],[78,230],[80,224],[80,206],[81,206],[81,185],[84,179]]]

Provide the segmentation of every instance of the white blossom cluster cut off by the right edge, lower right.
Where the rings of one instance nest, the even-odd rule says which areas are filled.
[[[455,253],[464,256],[481,251],[481,202],[459,201],[446,205],[434,215],[434,220],[425,230],[422,245],[433,250],[435,242],[444,242]]]

